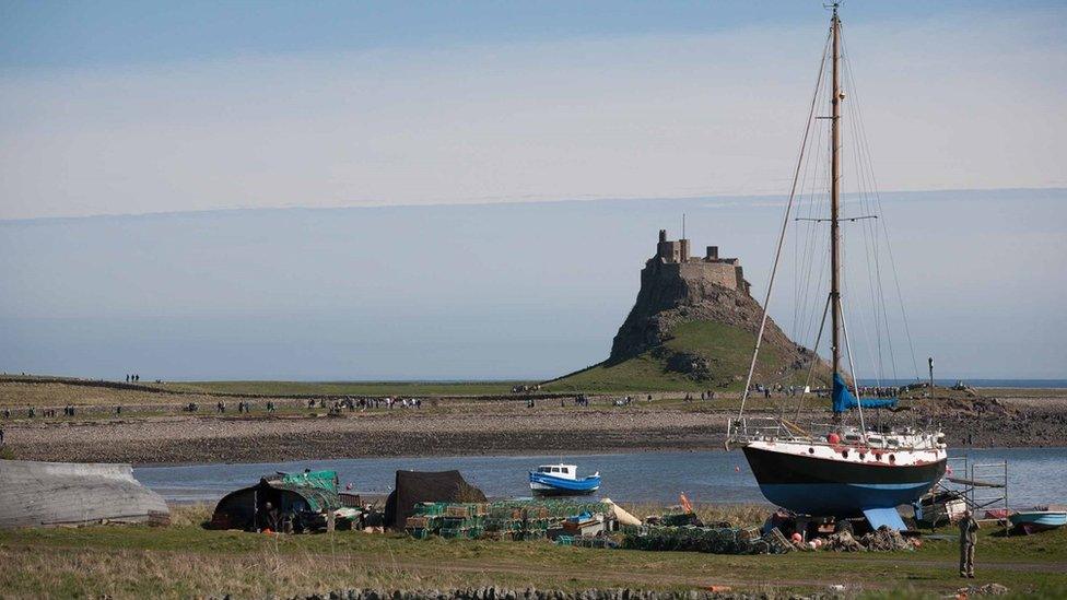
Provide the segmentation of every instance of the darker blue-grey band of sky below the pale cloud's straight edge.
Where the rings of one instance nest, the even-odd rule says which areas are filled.
[[[843,225],[857,372],[925,376],[933,355],[945,378],[1067,378],[1065,202],[1067,190],[884,193],[894,260],[881,255],[890,307],[881,336],[859,225]],[[782,197],[718,197],[0,222],[0,370],[553,377],[608,356],[658,230],[676,238],[682,214],[694,254],[717,245],[740,258],[762,302],[783,208]],[[799,232],[790,228],[770,306],[810,348],[822,306],[795,299]],[[819,296],[818,285],[801,287]]]

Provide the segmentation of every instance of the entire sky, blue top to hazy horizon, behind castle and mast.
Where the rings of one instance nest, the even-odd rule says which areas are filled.
[[[854,314],[861,376],[1067,377],[1067,5],[842,17],[913,338],[875,361]],[[828,19],[0,1],[0,370],[554,376],[607,355],[681,213],[762,299]],[[805,343],[794,279],[771,311]]]

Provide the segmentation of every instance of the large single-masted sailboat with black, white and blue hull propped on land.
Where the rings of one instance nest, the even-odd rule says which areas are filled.
[[[888,525],[903,529],[904,523],[896,514],[895,507],[917,502],[941,479],[946,470],[947,450],[943,435],[935,428],[868,427],[864,419],[864,409],[891,408],[895,405],[896,399],[861,398],[855,379],[855,368],[849,368],[853,373],[852,384],[848,383],[849,377],[845,374],[843,346],[847,351],[848,364],[854,365],[854,363],[842,309],[843,252],[840,226],[842,221],[855,222],[857,219],[868,217],[843,217],[840,213],[841,118],[845,94],[842,91],[840,73],[841,20],[837,16],[837,4],[833,4],[832,8],[833,16],[823,55],[823,66],[820,67],[820,83],[812,98],[801,160],[797,165],[793,191],[778,238],[774,269],[764,302],[763,321],[746,381],[741,410],[738,416],[729,422],[727,444],[742,449],[763,495],[778,506],[814,517],[848,518],[863,515],[875,527]],[[831,115],[814,117],[817,98],[824,79],[826,52],[831,54],[829,61],[832,85],[829,97]],[[830,214],[826,219],[808,221],[829,223],[830,230],[830,293],[822,311],[819,339],[822,337],[822,327],[829,313],[833,374],[830,397],[833,420],[824,425],[800,426],[783,416],[746,416],[744,404],[752,388],[752,375],[757,367],[763,329],[766,325],[766,307],[770,304],[782,246],[797,195],[797,180],[801,177],[804,149],[808,144],[807,132],[813,130],[813,117],[829,120],[830,127],[826,140],[830,144]],[[816,350],[818,345],[817,339]],[[809,384],[811,381],[810,373],[808,381]],[[799,414],[798,407],[797,415]],[[845,421],[853,416],[858,416],[858,423],[846,425]]]

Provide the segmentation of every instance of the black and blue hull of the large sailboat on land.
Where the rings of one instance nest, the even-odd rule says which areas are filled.
[[[857,517],[911,504],[945,474],[946,460],[923,464],[856,463],[746,447],[760,491],[772,503],[812,516]]]

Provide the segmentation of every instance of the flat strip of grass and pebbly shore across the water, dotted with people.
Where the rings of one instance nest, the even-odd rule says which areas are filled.
[[[647,393],[630,393],[632,401],[624,405],[617,403],[625,393],[600,393],[589,395],[588,405],[578,405],[574,393],[514,393],[514,385],[156,386],[0,378],[0,411],[10,412],[0,419],[2,451],[31,460],[144,464],[704,450],[723,447],[726,422],[739,403],[736,392],[720,391],[710,400],[701,400],[700,392],[688,392],[690,400],[687,392],[657,392],[652,400]],[[386,396],[419,397],[421,408],[399,402],[388,408],[382,400]],[[331,411],[341,399],[359,398],[372,400]],[[273,412],[268,413],[268,402]],[[819,400],[806,404],[801,422],[825,419]],[[953,447],[1067,446],[1065,389],[938,388],[935,401],[916,398],[905,404],[913,410],[895,419],[939,423]],[[73,414],[65,411],[68,407]],[[795,399],[753,398],[749,407],[757,412],[792,410]]]

